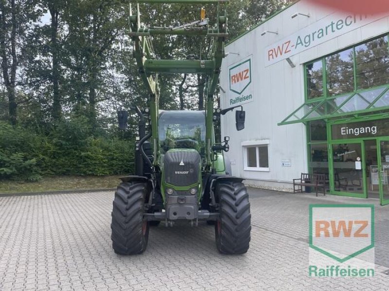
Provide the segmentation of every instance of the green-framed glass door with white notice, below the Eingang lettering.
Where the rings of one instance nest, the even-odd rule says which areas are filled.
[[[362,143],[345,142],[332,144],[333,189],[340,195],[366,198],[366,166]]]

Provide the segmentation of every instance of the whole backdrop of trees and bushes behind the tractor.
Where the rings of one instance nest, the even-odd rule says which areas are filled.
[[[231,0],[230,39],[287,2]],[[214,21],[216,5],[204,7]],[[177,27],[198,20],[200,8],[142,4],[142,21]],[[0,120],[18,125],[0,121],[0,179],[133,172],[138,119],[130,112],[127,131],[114,126],[117,110],[147,106],[127,18],[128,5],[121,0],[0,1]],[[157,58],[184,59],[204,56],[210,43],[209,38],[157,36],[153,46]],[[159,76],[160,109],[179,108],[181,82],[180,74]],[[203,85],[202,76],[188,74],[181,85],[182,108],[203,108]]]

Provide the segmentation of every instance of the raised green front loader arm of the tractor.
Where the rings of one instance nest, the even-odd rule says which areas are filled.
[[[206,75],[206,171],[212,167],[211,147],[213,137],[213,96],[219,80],[222,59],[225,56],[224,44],[228,36],[227,16],[220,16],[220,5],[229,0],[134,0],[136,15],[132,15],[130,4],[130,32],[134,42],[134,57],[141,75],[150,104],[151,117],[151,144],[154,148],[154,167],[159,168],[159,138],[158,138],[158,110],[159,86],[158,74],[204,74]],[[139,3],[183,3],[183,4],[217,4],[217,23],[214,27],[189,25],[185,27],[146,27],[141,24]],[[206,59],[199,60],[160,60],[156,58],[151,36],[153,35],[203,35],[211,37],[211,49]]]

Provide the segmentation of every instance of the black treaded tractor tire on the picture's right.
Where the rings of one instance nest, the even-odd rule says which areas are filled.
[[[246,253],[251,239],[251,214],[245,185],[221,181],[216,185],[215,195],[220,211],[215,224],[217,250],[222,254]]]

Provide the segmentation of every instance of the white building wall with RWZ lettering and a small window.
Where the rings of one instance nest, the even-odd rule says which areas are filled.
[[[292,19],[291,16],[297,12],[309,14],[310,17],[297,16]],[[299,1],[226,47],[228,55],[223,61],[220,77],[221,87],[225,91],[220,92],[221,106],[224,109],[242,104],[246,111],[246,128],[236,131],[235,113],[230,112],[222,117],[222,136],[230,136],[230,152],[226,153],[226,156],[231,161],[232,174],[246,178],[247,185],[290,190],[292,179],[298,178],[301,172],[308,171],[305,126],[277,125],[304,103],[303,64],[389,31],[388,16],[349,17],[347,18],[349,22],[355,20],[350,27],[346,27],[344,23],[346,16]],[[343,20],[343,27],[337,30],[336,22],[340,19]],[[331,21],[334,21],[333,28],[327,28],[326,36],[320,40],[317,33],[312,36],[311,32],[318,32],[323,24],[330,24]],[[339,28],[340,24],[339,22]],[[332,29],[336,32],[332,32]],[[261,35],[265,31],[278,34],[267,32]],[[297,32],[302,33],[301,41],[304,41],[303,36],[309,32],[310,37],[306,40],[310,41],[306,47],[308,42],[300,44],[301,51],[294,54],[292,46],[297,45],[296,36],[299,35]],[[288,40],[286,48],[285,43]],[[285,44],[283,49],[282,44]],[[281,60],[269,62],[268,51],[271,48],[278,48],[279,58],[280,50],[283,51]],[[271,55],[273,58],[274,53],[275,51]],[[286,59],[282,59],[286,56],[289,56],[295,67],[291,67]],[[249,83],[248,80],[244,80],[248,85],[240,92],[244,87],[236,87],[236,80],[231,84],[230,74],[235,74],[239,69],[236,65],[248,59],[251,63],[251,78]],[[244,100],[244,97],[249,95],[251,98]],[[241,97],[240,101],[237,97]],[[233,102],[231,100],[235,100],[236,103],[231,104]],[[242,145],[267,142],[268,171],[245,170]]]

